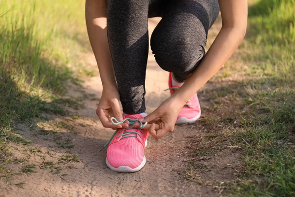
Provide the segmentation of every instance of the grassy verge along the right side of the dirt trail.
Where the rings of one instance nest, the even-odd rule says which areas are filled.
[[[215,133],[196,155],[242,155],[226,196],[295,196],[294,13],[295,0],[255,0],[244,42],[205,90],[203,122]]]

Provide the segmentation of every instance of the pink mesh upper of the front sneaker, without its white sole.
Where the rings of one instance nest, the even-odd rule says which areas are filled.
[[[126,115],[124,118],[140,119],[143,118],[140,114]],[[130,129],[127,131],[137,131],[141,135],[132,133],[129,135],[136,135],[137,137],[118,137],[122,134],[121,131],[117,132],[111,141],[107,150],[107,160],[113,167],[118,168],[119,166],[128,166],[130,168],[138,167],[144,160],[145,156],[145,141],[148,138],[148,131],[139,129]]]

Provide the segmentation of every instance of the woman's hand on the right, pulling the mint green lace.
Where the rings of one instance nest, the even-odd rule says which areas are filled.
[[[180,109],[183,107],[183,104],[184,103],[181,101],[170,97],[162,102],[162,104],[151,114],[139,121],[142,123],[149,123],[145,129],[147,129],[151,136],[157,140],[167,132],[174,130],[177,116]]]

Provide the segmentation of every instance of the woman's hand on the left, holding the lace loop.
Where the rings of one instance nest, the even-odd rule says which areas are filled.
[[[111,122],[111,117],[115,117],[120,122],[123,121],[119,100],[120,95],[117,88],[114,87],[103,90],[101,99],[96,109],[96,114],[104,127],[114,130],[129,127],[129,121],[125,121],[119,125],[114,125]]]

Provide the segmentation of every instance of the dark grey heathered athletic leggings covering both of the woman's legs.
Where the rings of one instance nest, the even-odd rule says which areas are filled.
[[[205,55],[218,0],[108,0],[107,33],[126,114],[145,112],[148,17],[162,17],[150,45],[158,65],[184,81]]]

